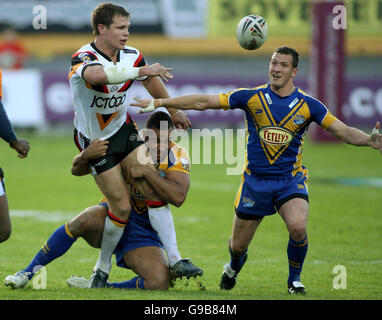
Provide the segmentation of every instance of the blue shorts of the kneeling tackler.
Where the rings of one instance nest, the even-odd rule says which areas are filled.
[[[99,204],[108,208],[106,202],[100,202]],[[123,259],[126,252],[149,246],[163,248],[157,232],[150,224],[147,210],[142,213],[137,213],[137,211],[132,208],[129,222],[127,223],[122,238],[119,240],[114,251],[117,266],[129,269]]]

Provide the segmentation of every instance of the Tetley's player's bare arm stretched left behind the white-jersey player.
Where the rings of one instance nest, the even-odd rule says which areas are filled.
[[[170,99],[139,99],[134,98],[136,102],[131,106],[140,107],[139,113],[151,112],[159,107],[174,108],[179,110],[206,110],[222,109],[219,95],[213,94],[193,94]]]

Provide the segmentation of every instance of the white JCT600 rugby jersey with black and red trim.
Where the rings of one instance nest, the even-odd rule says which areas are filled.
[[[125,46],[118,52],[117,64],[141,67],[146,65],[142,54],[135,48]],[[91,141],[107,139],[116,133],[126,121],[128,103],[126,91],[134,80],[120,84],[92,85],[83,78],[90,65],[114,65],[106,54],[89,43],[72,56],[69,82],[74,103],[74,127]],[[147,77],[140,77],[144,80]]]

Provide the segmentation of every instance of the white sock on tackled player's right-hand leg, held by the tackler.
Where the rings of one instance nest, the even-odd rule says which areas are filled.
[[[159,208],[148,208],[150,223],[153,229],[158,232],[158,236],[162,241],[166,250],[170,267],[177,263],[182,257],[178,251],[176,242],[176,233],[174,220],[169,205]]]

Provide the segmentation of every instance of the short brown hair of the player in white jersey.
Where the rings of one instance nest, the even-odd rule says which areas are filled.
[[[98,35],[98,25],[103,24],[110,27],[113,23],[114,16],[130,17],[130,13],[121,6],[117,6],[110,2],[100,3],[92,12],[92,28],[93,34]]]

